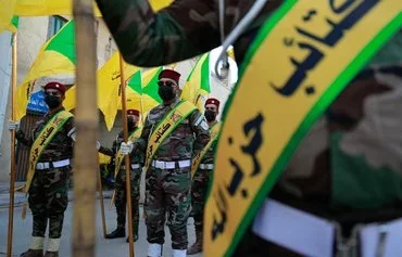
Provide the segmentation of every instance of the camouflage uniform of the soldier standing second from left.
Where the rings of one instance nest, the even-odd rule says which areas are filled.
[[[129,131],[130,133],[130,131]],[[99,152],[109,156],[115,156],[118,152],[118,147],[123,142],[123,131],[118,133],[116,139],[113,141],[112,149],[106,149],[101,146]],[[114,162],[113,162],[114,164]],[[138,237],[138,222],[139,222],[139,196],[140,196],[140,181],[141,181],[141,171],[143,165],[143,155],[139,154],[130,154],[130,164],[131,165],[139,165],[139,168],[131,169],[130,168],[130,185],[131,185],[131,217],[133,217],[133,235],[134,237]],[[111,169],[114,174],[114,166]],[[116,180],[115,180],[115,202],[114,205],[116,206],[117,211],[117,229],[125,230],[126,228],[126,203],[127,203],[127,194],[126,194],[126,169],[125,169],[125,162],[123,159],[123,164],[118,170]]]

